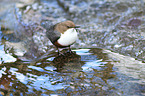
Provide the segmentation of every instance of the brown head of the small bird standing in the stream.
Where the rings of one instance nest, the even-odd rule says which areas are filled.
[[[61,23],[56,24],[55,30],[57,30],[60,33],[64,33],[69,28],[76,28],[75,24],[72,21],[64,21]]]

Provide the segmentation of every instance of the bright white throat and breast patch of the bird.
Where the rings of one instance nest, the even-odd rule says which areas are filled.
[[[76,29],[71,28],[65,31],[64,34],[61,33],[61,36],[58,39],[58,43],[61,44],[62,46],[69,46],[73,44],[77,38],[78,35]]]

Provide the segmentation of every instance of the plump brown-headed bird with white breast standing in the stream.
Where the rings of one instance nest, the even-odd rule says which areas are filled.
[[[46,35],[57,49],[69,47],[69,52],[71,52],[70,45],[78,38],[76,30],[78,27],[72,21],[64,21],[47,28]]]

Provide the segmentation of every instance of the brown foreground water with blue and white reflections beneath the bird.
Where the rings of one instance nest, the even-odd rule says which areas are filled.
[[[0,91],[5,95],[131,95],[142,96],[138,79],[117,72],[102,49],[77,49],[36,64],[0,66]],[[96,53],[93,53],[97,51]],[[75,53],[76,52],[76,53]],[[136,86],[132,88],[133,86]],[[128,91],[125,90],[128,88]],[[133,90],[130,91],[129,90]]]

